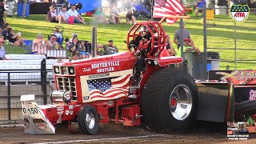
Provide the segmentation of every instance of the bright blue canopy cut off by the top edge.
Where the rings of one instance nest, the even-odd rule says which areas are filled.
[[[102,6],[102,0],[69,0],[69,2],[72,5],[76,3],[82,3],[82,9],[78,11],[80,14],[95,10],[99,6]]]

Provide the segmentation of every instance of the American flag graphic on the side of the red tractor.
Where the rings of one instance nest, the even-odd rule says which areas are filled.
[[[101,78],[88,80],[90,99],[109,100],[128,96],[131,74],[118,78]]]

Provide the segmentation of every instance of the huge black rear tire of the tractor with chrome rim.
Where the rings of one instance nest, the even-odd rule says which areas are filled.
[[[142,90],[142,115],[154,130],[190,128],[198,102],[193,78],[169,67],[156,71]]]

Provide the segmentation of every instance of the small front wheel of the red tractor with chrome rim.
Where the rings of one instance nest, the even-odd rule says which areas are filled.
[[[93,106],[86,105],[78,113],[78,126],[82,134],[94,135],[98,133],[98,113]]]

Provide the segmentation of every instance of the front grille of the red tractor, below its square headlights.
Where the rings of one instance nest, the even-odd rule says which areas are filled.
[[[78,100],[77,90],[75,88],[75,79],[73,77],[57,77],[57,86],[60,90],[69,90],[72,94],[72,100]]]

